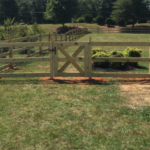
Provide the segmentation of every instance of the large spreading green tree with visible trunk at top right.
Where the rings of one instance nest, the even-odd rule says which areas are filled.
[[[132,20],[133,27],[138,19],[149,18],[148,0],[117,0],[114,2],[111,17],[116,20]]]

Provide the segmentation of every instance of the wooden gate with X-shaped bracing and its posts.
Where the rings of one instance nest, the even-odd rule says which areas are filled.
[[[70,56],[65,50],[64,46],[79,46],[77,50]],[[79,53],[84,50],[84,57],[77,57]],[[65,58],[58,57],[58,51],[60,51]],[[92,76],[92,51],[89,43],[81,43],[78,45],[77,43],[57,43],[52,42],[52,47],[50,48],[50,71],[51,71],[51,79],[53,77],[89,77]],[[65,61],[63,66],[58,69],[58,63],[60,61]],[[84,62],[84,69],[79,66],[78,61]],[[64,73],[65,69],[72,64],[79,73]]]

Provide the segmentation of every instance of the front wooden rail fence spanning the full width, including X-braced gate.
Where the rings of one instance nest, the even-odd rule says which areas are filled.
[[[15,46],[18,43],[9,43],[9,44],[0,44],[2,46]],[[26,43],[27,46],[29,42]],[[41,46],[41,42],[34,42],[35,46]],[[16,73],[16,74],[0,74],[0,78],[4,77],[45,77],[50,76],[51,79],[53,77],[62,76],[62,77],[126,77],[126,78],[150,78],[150,71],[149,74],[144,73],[93,73],[92,72],[92,63],[93,62],[149,62],[150,64],[150,56],[149,58],[139,58],[139,57],[129,57],[129,58],[92,58],[92,46],[97,45],[106,45],[106,46],[149,46],[149,42],[54,42],[49,41],[45,42],[46,45],[49,44],[50,49],[50,58],[1,58],[0,62],[43,62],[43,61],[50,61],[50,73]],[[20,43],[20,46],[24,46],[24,43]],[[63,46],[79,46],[79,48],[74,52],[72,56],[70,56]],[[55,49],[54,49],[55,48]],[[77,57],[77,55],[84,49],[84,57]],[[65,58],[58,58],[58,50],[60,50]],[[149,51],[150,52],[150,51]],[[60,70],[58,70],[58,62],[65,61],[65,64],[62,66]],[[84,62],[84,70],[77,64],[77,62]],[[79,73],[64,73],[64,70],[67,66],[72,63],[74,67],[79,71]],[[150,65],[149,65],[150,66]],[[150,68],[149,68],[150,70]]]

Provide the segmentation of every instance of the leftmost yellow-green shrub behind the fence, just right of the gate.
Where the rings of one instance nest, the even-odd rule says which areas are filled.
[[[106,53],[105,51],[104,52],[100,51],[92,55],[92,58],[97,58],[97,57],[109,57],[109,54]],[[109,62],[94,62],[95,67],[108,67],[109,65],[110,65]]]

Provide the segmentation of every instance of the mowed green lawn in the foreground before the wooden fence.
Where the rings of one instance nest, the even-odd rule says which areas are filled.
[[[96,35],[85,36],[86,41],[88,36]],[[20,70],[6,72],[50,70],[49,62],[18,65]],[[70,65],[67,71],[75,69]],[[120,90],[117,81],[80,85],[0,79],[0,149],[149,150],[150,107],[127,107],[128,97]]]

